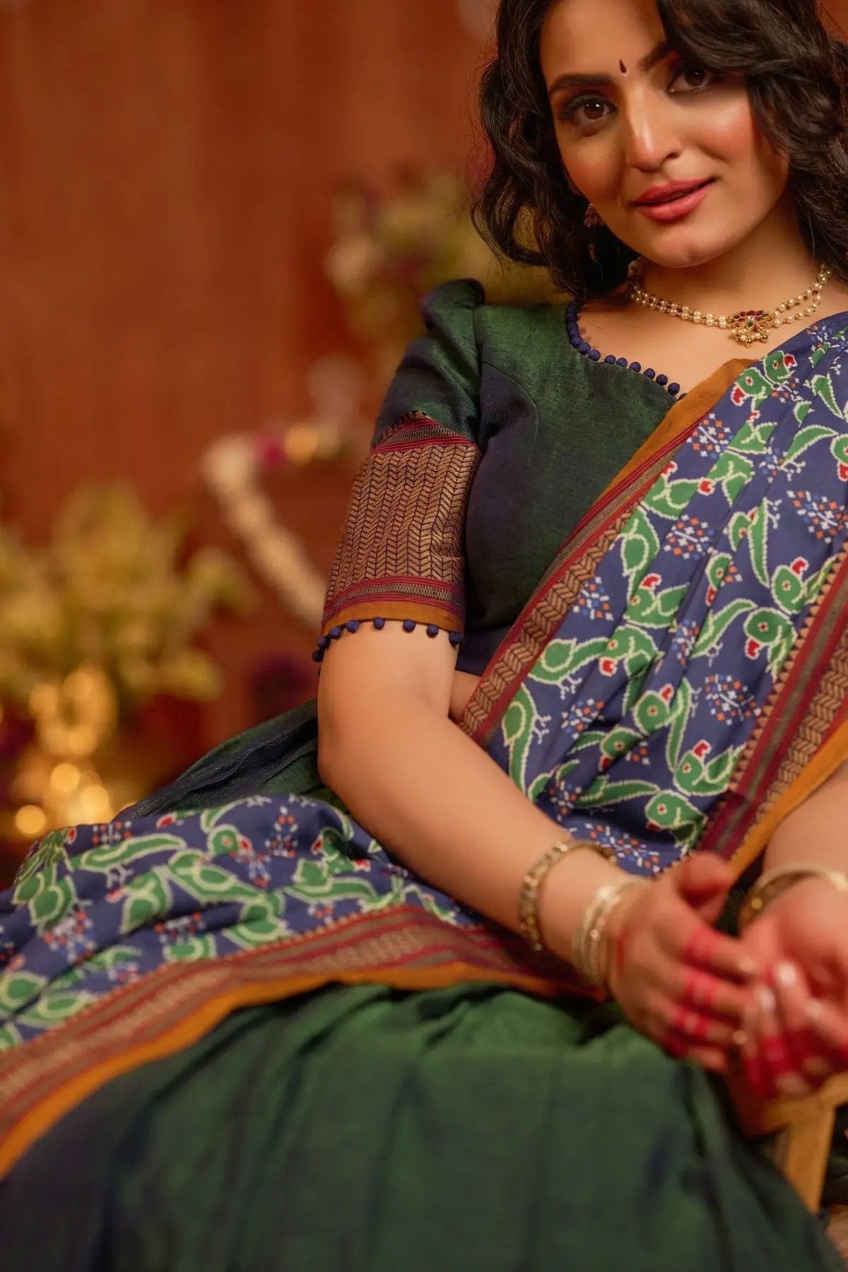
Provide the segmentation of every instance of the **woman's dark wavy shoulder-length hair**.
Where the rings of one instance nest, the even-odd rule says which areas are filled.
[[[605,226],[584,226],[586,200],[563,172],[539,60],[554,3],[500,0],[479,97],[493,162],[473,218],[501,257],[544,266],[557,287],[591,299],[624,282],[636,253]],[[681,57],[746,78],[759,127],[790,162],[811,254],[848,281],[848,45],[824,25],[816,0],[656,4]]]

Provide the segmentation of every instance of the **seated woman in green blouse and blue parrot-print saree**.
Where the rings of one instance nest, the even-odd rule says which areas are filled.
[[[847,94],[812,0],[501,0],[478,221],[586,303],[427,299],[319,742],[5,895],[17,1272],[840,1266],[721,1079],[848,1100]]]

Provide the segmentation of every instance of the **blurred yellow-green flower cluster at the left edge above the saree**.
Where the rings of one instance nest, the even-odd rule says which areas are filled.
[[[0,702],[51,754],[88,754],[160,693],[207,701],[220,673],[195,641],[248,585],[225,553],[182,563],[182,518],[155,522],[123,486],[79,490],[46,548],[0,527]]]

